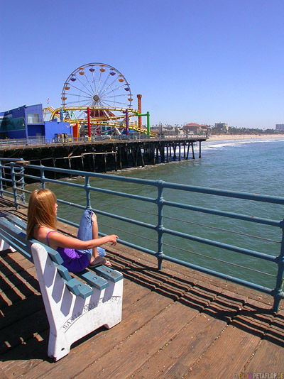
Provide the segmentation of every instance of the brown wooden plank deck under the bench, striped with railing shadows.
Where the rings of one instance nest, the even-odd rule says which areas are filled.
[[[0,199],[0,210],[10,206]],[[26,211],[13,213],[24,218]],[[48,320],[33,264],[1,252],[1,379],[284,373],[282,303],[273,314],[271,297],[261,293],[173,263],[158,271],[155,258],[124,246],[107,251],[124,274],[122,321],[78,341],[57,363],[47,357]]]

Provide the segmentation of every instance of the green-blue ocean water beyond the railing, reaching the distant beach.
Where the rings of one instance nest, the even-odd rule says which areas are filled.
[[[197,146],[195,150],[195,157],[198,157],[199,147]],[[244,138],[239,141],[207,141],[202,143],[202,158],[195,160],[180,160],[143,168],[121,170],[111,174],[284,197],[283,172],[284,138],[269,138],[267,140]],[[84,184],[84,180],[80,177],[70,178],[67,182]],[[141,187],[104,179],[94,179],[91,185],[144,197],[155,198],[157,196],[155,189],[151,186]],[[76,188],[60,187],[58,189],[55,185],[49,185],[49,187],[55,190],[58,198],[84,204],[84,193]],[[169,189],[165,190],[164,197],[169,201],[192,204],[197,207],[219,209],[278,221],[284,218],[284,206],[282,205]],[[111,212],[149,224],[157,224],[157,209],[153,207],[153,204],[145,204],[138,200],[134,201],[100,192],[92,192],[91,199],[92,207],[95,210]],[[65,207],[60,206],[59,215],[70,217],[70,214],[65,214],[65,212],[67,212]],[[249,248],[273,256],[278,256],[280,252],[282,230],[278,227],[263,226],[194,211],[174,210],[171,207],[165,207],[163,216],[163,224],[168,229]],[[79,220],[79,218],[79,213],[72,214],[72,219]],[[103,233],[114,233],[125,241],[150,248],[153,251],[157,250],[155,232],[123,221],[109,219],[107,216],[98,215],[98,220],[99,229]],[[274,263],[195,241],[181,240],[174,236],[165,235],[163,242],[164,253],[169,256],[187,260],[227,275],[257,282],[266,287],[272,288],[275,285],[277,266]]]

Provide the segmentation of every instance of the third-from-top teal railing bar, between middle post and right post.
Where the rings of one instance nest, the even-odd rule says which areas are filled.
[[[182,233],[180,231],[173,231],[171,229],[163,228],[163,233],[170,234],[171,236],[177,236],[177,237],[189,239],[190,241],[205,243],[206,245],[215,246],[217,248],[224,248],[224,249],[229,250],[229,251],[234,251],[235,253],[241,253],[241,254],[253,256],[256,258],[270,260],[271,262],[275,262],[275,260],[276,260],[276,257],[269,256],[268,254],[259,253],[258,251],[252,251],[252,250],[248,250],[246,248],[239,248],[237,246],[229,245],[227,243],[213,241],[213,240],[210,240],[207,238],[192,236],[191,234],[185,234],[185,233]]]

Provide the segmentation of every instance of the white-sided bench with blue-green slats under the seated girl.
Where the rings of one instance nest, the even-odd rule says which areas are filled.
[[[75,275],[84,282],[72,277],[58,252],[25,240],[25,225],[15,216],[0,217],[0,246],[33,260],[50,325],[48,356],[58,361],[75,341],[100,326],[109,329],[121,322],[123,275],[100,266]]]

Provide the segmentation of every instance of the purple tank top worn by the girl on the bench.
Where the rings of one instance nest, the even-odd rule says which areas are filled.
[[[48,234],[53,231],[49,231]],[[55,231],[56,232],[56,231]],[[46,235],[46,241],[49,246],[48,234]],[[62,265],[67,268],[70,273],[80,273],[89,265],[89,256],[84,251],[75,250],[73,248],[60,248],[56,249],[63,260]]]

